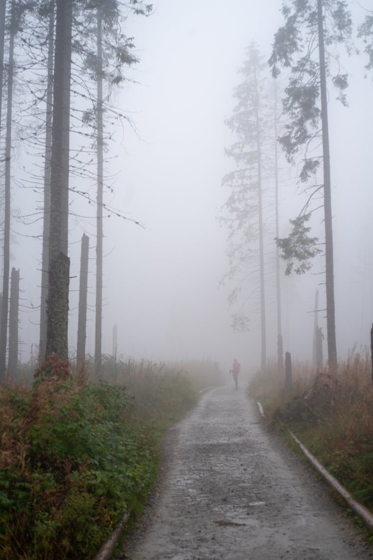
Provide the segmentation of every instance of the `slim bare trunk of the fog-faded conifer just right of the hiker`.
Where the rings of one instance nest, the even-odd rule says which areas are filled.
[[[265,301],[265,277],[264,277],[264,242],[263,242],[263,204],[262,204],[262,151],[261,151],[261,130],[259,123],[259,91],[257,82],[257,68],[255,69],[256,87],[256,136],[257,136],[257,157],[258,157],[258,216],[259,216],[259,261],[260,261],[260,293],[261,293],[261,371],[266,372],[267,352],[266,352],[266,301]]]

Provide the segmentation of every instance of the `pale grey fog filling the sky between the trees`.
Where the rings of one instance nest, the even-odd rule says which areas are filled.
[[[147,18],[129,18],[126,33],[134,37],[140,62],[129,69],[127,82],[112,96],[112,104],[133,121],[113,129],[106,154],[105,203],[124,213],[111,213],[103,222],[103,339],[104,353],[112,352],[112,329],[117,325],[117,353],[135,359],[190,360],[210,358],[228,368],[238,358],[245,371],[260,361],[258,306],[247,308],[249,331],[234,333],[228,295],[234,279],[221,286],[228,271],[226,239],[219,226],[228,190],[221,186],[232,162],[224,156],[232,137],[224,119],[232,114],[233,88],[244,49],[256,41],[266,59],[273,34],[282,24],[281,3],[187,3],[160,0]],[[351,3],[356,24],[365,12]],[[362,45],[356,45],[362,51]],[[347,355],[354,345],[369,343],[373,320],[373,189],[372,75],[365,78],[367,60],[355,51],[343,64],[350,73],[348,108],[329,94],[330,161],[334,234],[337,351]],[[269,69],[268,69],[269,72]],[[74,142],[74,141],[72,141]],[[22,175],[27,155],[22,148],[13,175]],[[280,235],[289,230],[304,203],[294,169],[282,170]],[[77,178],[70,183],[79,186]],[[80,188],[80,187],[79,187]],[[92,193],[95,185],[89,186]],[[273,187],[274,188],[274,187]],[[12,192],[12,213],[36,208],[35,193]],[[40,197],[39,197],[40,198]],[[87,353],[94,353],[95,330],[95,211],[72,194],[70,207],[70,323],[72,352],[77,337],[80,239],[90,237]],[[136,225],[134,221],[140,225]],[[39,228],[40,222],[34,225]],[[323,237],[322,216],[313,222]],[[11,266],[21,270],[21,360],[39,342],[39,239],[30,239],[30,226],[13,217]],[[36,231],[36,230],[35,230]],[[267,259],[270,259],[270,253]],[[273,263],[272,263],[273,266]],[[324,304],[323,260],[302,277],[281,275],[284,350],[293,358],[311,360],[315,290]],[[267,356],[277,344],[275,280],[268,267]],[[272,278],[273,277],[273,278]],[[248,287],[248,292],[252,287]],[[320,314],[326,339],[326,321]],[[326,356],[326,341],[324,348]]]

